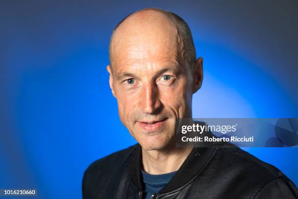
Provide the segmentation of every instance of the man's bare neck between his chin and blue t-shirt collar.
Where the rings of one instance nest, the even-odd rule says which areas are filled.
[[[192,148],[177,148],[175,145],[159,150],[146,150],[142,147],[142,161],[145,172],[153,175],[177,171]]]

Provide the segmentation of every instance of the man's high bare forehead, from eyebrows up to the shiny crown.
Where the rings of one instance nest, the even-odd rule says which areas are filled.
[[[177,60],[177,29],[167,16],[150,12],[131,18],[124,21],[113,35],[113,70]]]

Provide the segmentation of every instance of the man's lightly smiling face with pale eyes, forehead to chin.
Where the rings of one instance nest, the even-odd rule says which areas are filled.
[[[120,119],[146,150],[173,141],[177,119],[191,117],[193,93],[189,71],[177,60],[177,31],[171,23],[154,28],[132,32],[119,27],[112,45],[113,72],[107,67]]]

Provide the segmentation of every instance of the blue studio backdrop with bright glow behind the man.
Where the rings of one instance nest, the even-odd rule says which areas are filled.
[[[0,188],[81,198],[84,170],[136,141],[106,65],[113,27],[159,7],[189,24],[204,58],[195,118],[298,118],[298,2],[0,1]],[[298,148],[245,148],[298,184]]]

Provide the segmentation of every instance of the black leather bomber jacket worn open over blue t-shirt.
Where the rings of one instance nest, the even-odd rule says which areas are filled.
[[[83,199],[144,199],[141,146],[93,162]],[[295,184],[276,167],[238,147],[193,148],[153,199],[298,199]]]

